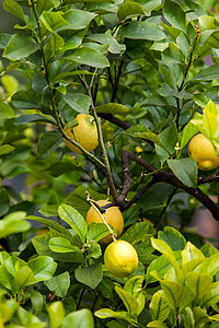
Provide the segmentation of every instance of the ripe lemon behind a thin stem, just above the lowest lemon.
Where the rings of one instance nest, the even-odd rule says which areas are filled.
[[[100,207],[103,207],[107,203],[111,203],[107,200],[99,200],[97,204]],[[124,227],[124,219],[122,215],[122,212],[119,211],[119,209],[117,207],[111,207],[108,208],[105,213],[103,213],[103,216],[106,221],[107,224],[112,225],[117,234],[117,237],[119,237],[119,235],[123,232],[123,227]],[[91,222],[96,222],[96,223],[103,223],[103,220],[101,219],[101,215],[95,211],[95,209],[93,207],[90,207],[88,213],[87,213],[87,218],[85,218],[87,224],[91,223]],[[111,236],[111,234],[108,234],[107,236],[103,237],[100,242],[103,244],[108,244],[113,241],[113,237]]]

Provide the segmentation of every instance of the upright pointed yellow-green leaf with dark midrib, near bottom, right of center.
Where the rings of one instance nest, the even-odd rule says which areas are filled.
[[[153,320],[164,321],[168,318],[171,308],[166,303],[163,291],[153,294],[149,308]]]

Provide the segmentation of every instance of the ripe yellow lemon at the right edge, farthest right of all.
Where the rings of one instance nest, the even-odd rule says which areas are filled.
[[[201,133],[196,134],[191,140],[188,155],[196,161],[198,168],[201,171],[209,171],[219,165],[219,156],[211,142]]]

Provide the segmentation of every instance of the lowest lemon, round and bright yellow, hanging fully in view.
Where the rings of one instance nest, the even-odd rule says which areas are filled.
[[[136,271],[138,267],[138,254],[128,242],[116,241],[106,247],[104,263],[113,276],[125,278]]]

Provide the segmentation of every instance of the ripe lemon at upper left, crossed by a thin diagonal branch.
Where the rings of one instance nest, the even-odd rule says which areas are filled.
[[[95,121],[91,115],[85,114],[78,114],[76,119],[78,120],[78,126],[72,128],[73,133],[77,138],[77,141],[89,152],[93,151],[99,145],[99,133],[97,128],[95,125]],[[71,132],[71,129],[67,129],[66,134],[76,141],[73,133]],[[64,141],[68,149],[70,149],[72,152],[76,152],[78,154],[81,154],[81,150],[66,140],[64,138]]]

